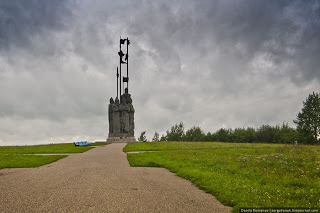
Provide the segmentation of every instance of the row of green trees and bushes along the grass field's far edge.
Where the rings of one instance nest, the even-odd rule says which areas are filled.
[[[205,133],[199,126],[184,129],[183,122],[173,125],[166,134],[159,137],[155,132],[152,141],[219,141],[235,143],[301,143],[319,144],[320,142],[320,94],[309,94],[303,102],[303,108],[293,121],[297,128],[288,123],[259,128],[221,128],[216,132]],[[146,132],[142,132],[139,141],[146,141]]]

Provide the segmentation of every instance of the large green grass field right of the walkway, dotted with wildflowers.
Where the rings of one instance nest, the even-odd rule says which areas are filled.
[[[164,167],[241,207],[320,207],[320,146],[215,142],[132,143],[131,166]]]

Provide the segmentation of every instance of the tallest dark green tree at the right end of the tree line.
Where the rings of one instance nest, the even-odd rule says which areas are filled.
[[[309,94],[303,102],[301,112],[297,115],[297,120],[293,121],[297,125],[299,139],[301,142],[318,143],[320,136],[320,94]]]

